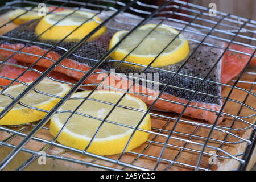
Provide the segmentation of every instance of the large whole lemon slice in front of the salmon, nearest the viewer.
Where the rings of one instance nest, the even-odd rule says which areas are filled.
[[[89,93],[90,91],[84,91],[73,94],[72,98],[80,97],[80,99],[67,101],[60,110],[73,111],[82,102],[83,99],[81,97],[86,97]],[[123,93],[121,92],[114,91],[96,91],[89,98],[115,104],[119,98],[121,98],[122,94]],[[139,98],[130,96],[129,94],[126,94],[119,105],[139,109],[142,111],[147,110],[147,106],[143,101],[141,101]],[[81,107],[77,110],[77,113],[103,119],[112,108],[113,105],[95,100],[86,100],[84,104],[82,104]],[[142,119],[144,114],[142,111],[135,111],[117,106],[109,115],[107,120],[135,127]],[[70,112],[57,113],[53,115],[50,125],[50,132],[53,136],[56,137],[57,133],[59,133],[61,127],[65,121],[67,121],[67,118],[70,115]],[[68,124],[57,138],[57,141],[61,144],[65,144],[66,146],[84,150],[85,147],[88,146],[90,139],[92,139],[100,123],[101,121],[98,119],[89,118],[85,115],[73,114]],[[141,125],[139,125],[139,128],[150,131],[151,122],[149,115],[146,115]],[[133,129],[130,129],[129,127],[104,122],[98,131],[96,138],[93,139],[92,144],[88,148],[88,152],[92,152],[93,154],[98,155],[119,154],[123,151],[132,132]],[[138,147],[142,143],[146,142],[148,136],[149,133],[146,131],[135,131],[129,146],[127,147],[127,151],[130,151],[133,148]]]

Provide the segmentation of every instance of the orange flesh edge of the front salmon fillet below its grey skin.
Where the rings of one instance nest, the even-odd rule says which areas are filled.
[[[13,49],[13,50],[18,50],[20,48],[23,47],[23,44],[1,44],[0,47],[2,48],[7,48],[7,49]],[[30,47],[25,47],[22,49],[23,52],[27,52],[27,53],[32,53],[35,55],[39,55],[42,56],[44,53],[47,52],[47,50],[42,49],[38,46],[30,46]],[[6,50],[0,50],[0,53],[5,55],[5,56],[11,56],[13,55],[13,52],[11,51],[6,51]],[[53,60],[58,60],[60,58],[60,55],[58,55],[55,52],[49,52],[47,53],[46,57],[53,59]],[[16,54],[13,56],[13,59],[16,59],[18,61],[21,61],[23,63],[29,63],[29,64],[33,64],[38,57],[36,56],[31,56],[31,55],[25,55],[25,54]],[[38,61],[38,63],[36,63],[36,65],[40,66],[40,67],[45,67],[48,68],[52,65],[52,61],[48,60],[48,59],[40,59]],[[64,65],[65,67],[69,67],[69,68],[74,68],[74,69],[80,69],[82,71],[89,71],[90,70],[90,66],[85,65],[85,64],[81,64],[78,63],[77,61],[73,61],[70,59],[64,59],[61,62],[62,65]],[[77,80],[80,80],[80,78],[82,76],[84,76],[84,73],[82,72],[78,72],[78,71],[73,71],[71,69],[66,69],[61,67],[60,65],[58,65],[55,68],[56,72],[60,72],[60,73],[64,73],[65,75],[68,75],[69,77],[75,78]],[[94,74],[90,75],[84,82],[84,84],[97,84],[101,81],[101,79],[99,78],[104,78],[106,76],[106,73],[98,73],[97,72],[102,72],[104,70],[102,69],[96,69],[96,71],[94,72]],[[115,81],[115,87],[117,88],[119,85],[119,82],[122,80],[122,77],[118,77],[117,75],[114,75],[113,73],[110,74],[110,76],[108,77],[108,79],[105,79],[104,82],[102,82],[102,84],[106,85],[106,86],[110,86],[111,84],[113,84],[112,82],[110,82],[111,80]],[[127,80],[127,85],[125,86],[126,88],[128,88],[133,82],[131,80]],[[123,89],[123,87],[119,87],[120,89]],[[101,88],[104,89],[104,88]],[[141,85],[134,85],[133,88],[134,92],[139,92],[138,89],[142,89]],[[156,95],[159,94],[159,92],[156,92],[155,90],[150,90],[147,88],[147,93],[145,93],[148,96],[153,96],[155,97]],[[151,105],[152,102],[154,102],[154,100],[150,99],[147,96],[141,96],[138,94],[132,94],[135,97],[141,98],[141,100],[143,100],[144,102],[146,102],[147,105]],[[184,100],[182,98],[179,97],[175,97],[172,96],[171,94],[168,93],[163,93],[162,96],[160,96],[160,98],[164,98],[166,100],[170,100],[170,101],[175,101],[175,102],[180,102],[183,104],[187,104],[187,100]],[[192,101],[191,104],[192,106],[199,106],[199,107],[203,107],[203,108],[207,108],[207,109],[212,109],[212,110],[220,110],[221,105],[217,105],[217,104],[205,104],[205,103],[201,103],[201,102],[195,102]],[[180,105],[180,104],[173,104],[171,102],[168,101],[162,101],[162,100],[158,100],[155,102],[154,105],[155,109],[161,109],[163,111],[172,111],[175,113],[181,113],[181,111],[183,111],[184,106]],[[184,114],[185,116],[188,117],[192,117],[192,118],[197,118],[197,119],[204,119],[205,121],[208,121],[210,123],[213,123],[217,117],[216,113],[207,111],[207,110],[201,110],[201,109],[195,109],[192,107],[188,107]],[[223,116],[221,115],[221,117],[218,119],[218,123],[220,123],[223,119]]]

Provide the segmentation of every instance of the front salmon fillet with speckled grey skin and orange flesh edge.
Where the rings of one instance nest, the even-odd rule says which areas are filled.
[[[100,15],[100,18],[104,20],[110,14],[111,13],[103,12]],[[133,28],[133,25],[131,24],[118,23],[118,20],[126,20],[126,22],[132,22],[135,24],[138,23],[135,22],[133,19],[127,18],[127,13],[124,14],[125,15],[120,14],[117,16],[117,18],[110,20],[107,27],[111,28],[108,28],[108,31],[105,32],[104,35],[101,35],[95,40],[82,44],[72,53],[72,55],[68,56],[67,59],[64,59],[61,64],[65,67],[75,68],[82,71],[89,71],[90,68],[97,63],[97,60],[100,60],[101,57],[104,56],[105,53],[108,51],[109,40],[112,38],[112,35],[117,31],[115,30],[115,28],[123,30],[131,30],[131,28]],[[157,21],[152,20],[147,23],[157,23]],[[163,23],[173,25],[172,22]],[[34,32],[36,24],[33,24],[32,26],[23,30],[22,28],[26,25],[27,24],[23,24],[15,30],[10,31],[6,34],[6,36],[10,36],[11,38],[18,38],[22,40],[2,39],[1,41],[3,42],[0,47],[18,51],[20,48],[23,48],[24,44],[26,44],[26,41],[34,39],[36,36]],[[175,24],[175,26],[180,25]],[[183,35],[186,38],[193,37],[193,39],[199,41],[203,40],[204,38],[203,36],[191,33],[188,34],[186,32],[184,32]],[[217,42],[216,40],[210,38],[205,39],[204,42],[216,44],[222,47],[225,46],[224,43]],[[33,42],[32,44],[24,47],[22,49],[22,52],[42,56],[55,43],[56,42],[35,40],[35,42]],[[76,42],[61,42],[57,46],[57,48],[47,53],[46,57],[52,60],[58,60],[60,55],[63,55],[63,53],[71,48],[75,43]],[[193,52],[193,54],[191,57],[189,57],[188,60],[184,60],[186,61],[186,64],[182,69],[180,69],[179,74],[174,76],[174,73],[177,71],[177,69],[179,69],[184,61],[181,61],[177,64],[169,65],[167,67],[163,67],[161,68],[162,71],[159,71],[155,68],[147,69],[147,71],[145,72],[146,76],[151,76],[153,81],[156,80],[156,77],[158,77],[158,81],[160,82],[160,84],[153,84],[151,85],[151,87],[149,87],[148,85],[143,85],[142,82],[136,82],[135,85],[131,88],[134,93],[130,94],[133,94],[133,96],[135,97],[141,98],[144,102],[146,102],[146,104],[151,105],[154,102],[154,98],[157,97],[159,93],[164,89],[164,84],[167,84],[168,80],[170,80],[170,78],[174,76],[172,81],[168,84],[168,87],[164,90],[164,93],[160,96],[160,98],[164,100],[156,101],[153,109],[181,113],[184,109],[184,104],[187,104],[188,100],[191,99],[193,90],[199,88],[201,80],[198,78],[204,78],[205,76],[207,76],[208,72],[214,66],[214,64],[216,65],[212,69],[212,72],[210,72],[207,80],[221,82],[221,66],[223,60],[220,59],[220,57],[223,53],[223,49],[205,46],[204,44],[201,44],[199,48],[196,49],[197,46],[197,43],[189,42],[189,47],[191,49],[191,53]],[[13,52],[4,49],[0,49],[0,53],[5,56],[13,55]],[[20,62],[29,64],[32,64],[36,60],[38,60],[38,57],[36,56],[25,55],[23,53],[18,53],[12,58]],[[38,63],[36,63],[36,65],[44,68],[48,68],[52,64],[52,61],[48,59],[40,59]],[[98,84],[106,76],[106,73],[97,72],[109,72],[114,67],[115,64],[113,64],[113,60],[111,60],[110,57],[108,60],[105,60],[92,75],[86,78],[84,84]],[[84,73],[82,72],[65,69],[60,65],[58,65],[54,71],[64,73],[65,75],[75,78],[76,80],[79,80],[82,76],[84,76]],[[109,89],[109,86],[113,86],[117,89],[126,90],[133,84],[133,80],[125,76],[131,73],[142,73],[143,69],[130,67],[128,68],[125,65],[121,64],[118,68],[115,68],[114,71],[115,73],[122,74],[122,76],[111,73],[108,79],[105,79],[105,81],[102,83],[105,86],[100,86],[99,89]],[[158,74],[155,75],[154,73]],[[126,84],[123,84],[123,81],[125,81]],[[200,93],[196,93],[195,97],[192,98],[190,105],[201,107],[202,109],[188,106],[187,109],[184,111],[183,115],[197,119],[204,119],[205,121],[213,123],[216,120],[217,113],[204,109],[210,109],[215,111],[220,110],[222,106],[222,101],[220,100],[220,98],[218,98],[218,96],[221,96],[221,86],[209,81],[205,81],[200,86],[198,91]],[[138,93],[142,93],[143,95]],[[212,96],[209,96],[208,94]],[[222,119],[223,116],[221,115],[217,123],[220,123]]]

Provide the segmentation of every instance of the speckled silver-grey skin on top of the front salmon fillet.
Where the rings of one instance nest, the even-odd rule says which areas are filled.
[[[104,20],[110,14],[111,13],[109,12],[103,12],[99,16],[102,20]],[[117,32],[117,29],[131,30],[131,28],[134,27],[132,24],[137,24],[139,22],[139,20],[136,19],[134,15],[129,15],[129,16],[134,17],[134,19],[127,18],[127,13],[124,13],[117,16],[117,18],[110,20],[110,22],[107,24],[108,30],[105,32],[104,35],[101,35],[97,39],[92,40],[90,42],[85,42],[79,48],[77,48],[72,53],[71,56],[68,56],[67,58],[75,61],[79,61],[80,63],[88,64],[90,66],[93,66],[94,64],[96,64],[97,60],[100,60],[101,57],[104,56],[105,53],[108,51],[109,41],[114,35],[114,33]],[[119,22],[128,22],[128,23],[122,24]],[[28,23],[31,23],[31,22],[28,22]],[[24,40],[34,39],[36,36],[34,31],[36,23],[33,24],[33,26],[28,27],[26,30],[20,31],[28,23],[22,24],[18,28],[15,28],[14,30],[7,32],[7,34],[5,35],[13,38],[24,39]],[[159,20],[151,20],[147,23],[159,23]],[[183,27],[180,24],[172,23],[168,21],[164,21],[163,23],[169,24],[172,26],[175,24],[175,26]],[[183,33],[183,35],[185,36],[185,38],[193,38],[199,41],[203,38],[203,37],[197,36],[196,34],[192,35],[190,33]],[[16,40],[6,41],[5,39],[0,39],[0,41],[1,42],[3,41],[5,44],[22,43]],[[49,45],[54,45],[56,43],[49,40],[41,40],[41,39],[38,39],[36,41],[39,43],[38,44],[34,43],[33,45],[39,46],[40,48],[43,48],[43,49],[49,49],[51,48],[51,46],[42,45],[40,43],[46,43]],[[210,38],[205,40],[205,42],[218,44],[217,42],[214,42],[214,40]],[[71,48],[74,44],[75,42],[64,41],[64,42],[61,42],[57,48],[53,49],[53,51],[58,53],[59,55],[63,55],[63,53],[67,51],[69,48]],[[191,50],[190,53],[192,53],[195,50],[197,45],[198,45],[197,43],[189,42],[189,48]],[[219,59],[219,57],[221,56],[221,53],[222,53],[221,49],[200,45],[200,47],[195,52],[193,52],[192,56],[187,60],[185,66],[179,71],[179,73],[184,75],[204,78],[209,72],[209,70],[216,63],[216,61]],[[109,58],[108,60],[111,60],[111,58]],[[104,69],[106,71],[110,71],[110,69],[114,68],[115,64],[109,63],[108,60],[102,63],[99,68]],[[169,65],[167,67],[163,67],[162,69],[176,72],[177,69],[181,66],[181,64],[184,63],[184,61],[181,61],[180,63],[177,63],[177,64]],[[115,72],[129,75],[129,73],[141,73],[142,70],[143,69],[139,70],[137,68],[128,68],[125,65],[121,64],[120,67],[115,69]],[[211,81],[220,82],[220,76],[221,76],[220,71],[221,71],[221,61],[213,69],[213,71],[210,73],[207,79]],[[147,69],[145,73],[148,74],[148,73],[156,73],[156,72],[159,74],[159,82],[162,84],[167,84],[168,80],[170,80],[170,78],[174,76],[174,73],[168,73],[166,71],[158,71],[154,68]],[[153,77],[153,81],[154,81],[154,77]],[[184,89],[195,90],[200,85],[200,82],[201,80],[198,80],[196,78],[176,75],[174,79],[171,81],[170,85],[174,87],[177,86]],[[153,85],[153,88],[154,88],[154,85]],[[159,91],[162,91],[163,88],[164,88],[163,85],[159,85]],[[191,98],[193,94],[193,92],[190,92],[188,90],[182,90],[182,89],[172,88],[172,87],[167,87],[165,92],[179,98],[184,98],[186,100]],[[199,92],[212,94],[213,96],[221,96],[220,85],[212,84],[210,82],[204,82],[204,84],[200,87]],[[198,93],[196,94],[195,97],[193,97],[193,101],[207,103],[207,104],[221,105],[221,100],[219,98],[210,97],[210,96],[207,96],[204,94],[198,94]]]

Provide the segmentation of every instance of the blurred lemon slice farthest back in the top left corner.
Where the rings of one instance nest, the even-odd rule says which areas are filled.
[[[14,19],[13,20],[14,23],[23,24],[23,23],[29,22],[30,20],[41,18],[40,14],[38,14],[38,11],[40,10],[38,7],[35,7],[32,10],[31,10],[31,7],[24,7],[24,9],[28,10],[28,12],[25,13],[26,10],[23,10],[23,9],[16,9],[16,10],[10,11],[8,14],[9,19]],[[53,6],[46,7],[46,13],[48,13],[49,11],[52,11],[53,9],[56,9],[56,7],[53,7]],[[63,10],[64,10],[63,8],[57,8],[55,12],[63,11]],[[20,16],[19,18],[16,18],[21,14],[23,15]]]

